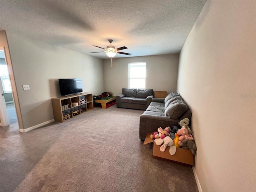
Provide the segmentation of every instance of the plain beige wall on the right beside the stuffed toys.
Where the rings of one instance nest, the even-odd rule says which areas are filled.
[[[180,53],[204,192],[256,191],[255,10],[255,1],[207,1]]]

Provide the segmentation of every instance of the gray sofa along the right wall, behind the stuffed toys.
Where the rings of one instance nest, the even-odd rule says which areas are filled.
[[[157,131],[159,127],[180,127],[180,120],[191,120],[191,115],[188,106],[176,92],[168,94],[166,98],[152,98],[152,102],[140,116],[140,140],[145,140],[148,133]]]

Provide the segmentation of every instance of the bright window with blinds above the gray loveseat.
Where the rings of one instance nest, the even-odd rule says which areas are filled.
[[[146,63],[129,63],[129,88],[145,89]]]

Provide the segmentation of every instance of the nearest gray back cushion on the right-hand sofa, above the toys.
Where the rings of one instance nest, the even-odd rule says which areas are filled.
[[[170,105],[164,111],[165,116],[171,119],[178,119],[182,114],[188,110],[188,106],[182,99],[177,99],[170,103]]]

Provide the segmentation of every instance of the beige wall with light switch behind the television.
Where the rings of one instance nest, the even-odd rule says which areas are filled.
[[[100,94],[102,59],[6,32],[24,129],[52,120],[58,78],[82,78],[83,91]],[[30,85],[23,90],[22,85]]]

